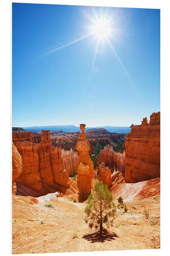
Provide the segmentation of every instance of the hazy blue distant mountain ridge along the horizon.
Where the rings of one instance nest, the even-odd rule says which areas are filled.
[[[80,127],[75,125],[46,125],[46,126],[29,126],[29,127],[23,127],[26,131],[31,132],[40,132],[41,130],[50,130],[50,131],[60,131],[63,132],[80,132]],[[92,129],[105,129],[110,133],[121,133],[127,135],[130,133],[131,129],[128,126],[98,126],[98,127],[86,127],[87,130]]]

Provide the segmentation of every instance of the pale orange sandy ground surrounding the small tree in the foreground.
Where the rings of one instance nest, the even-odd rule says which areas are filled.
[[[85,202],[62,197],[47,202],[54,208],[34,203],[27,197],[13,197],[13,254],[160,248],[159,195],[127,202],[127,213],[117,209],[114,226],[102,240],[84,222]],[[149,209],[148,219],[144,209]]]

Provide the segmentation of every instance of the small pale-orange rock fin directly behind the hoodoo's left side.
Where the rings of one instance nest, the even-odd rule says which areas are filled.
[[[77,169],[79,164],[78,152],[73,152],[72,148],[70,151],[61,150],[61,158],[66,169],[69,173],[69,176],[77,175]]]

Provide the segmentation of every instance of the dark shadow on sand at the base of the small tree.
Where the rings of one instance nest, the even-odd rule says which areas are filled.
[[[95,233],[84,234],[82,238],[86,239],[87,241],[90,241],[91,243],[95,243],[95,242],[103,243],[105,241],[115,240],[115,237],[118,238],[117,234],[115,234],[114,232],[110,233],[109,231],[107,231],[107,229],[103,228],[101,238],[100,238],[100,231]]]

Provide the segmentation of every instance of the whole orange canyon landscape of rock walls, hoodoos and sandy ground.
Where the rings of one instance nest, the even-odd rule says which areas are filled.
[[[85,124],[80,129],[73,135],[13,133],[13,253],[160,248],[160,112],[149,123],[143,118],[140,125],[131,125],[124,151],[113,150],[115,138],[118,145],[124,136],[85,132]],[[53,146],[55,136],[57,141],[63,138],[62,148]],[[94,169],[89,153],[102,136],[109,142]],[[116,136],[114,142],[111,136]],[[74,149],[66,150],[67,145]],[[86,200],[98,180],[110,189],[117,206],[114,226],[103,243],[84,222]],[[37,199],[56,191],[59,200],[50,201],[52,208]],[[118,207],[120,196],[128,212]]]

